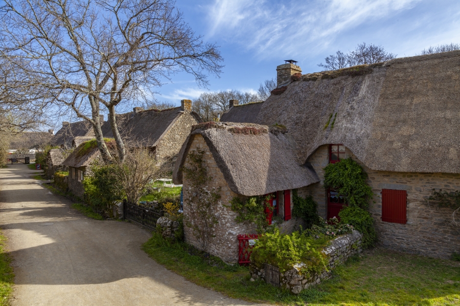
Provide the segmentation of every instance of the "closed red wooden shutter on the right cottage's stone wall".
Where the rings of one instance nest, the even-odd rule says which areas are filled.
[[[382,221],[407,223],[405,190],[382,189]]]

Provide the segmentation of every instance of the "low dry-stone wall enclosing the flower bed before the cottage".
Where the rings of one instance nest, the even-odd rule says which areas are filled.
[[[319,284],[321,279],[331,274],[331,269],[344,263],[349,257],[361,252],[362,235],[358,231],[343,235],[331,240],[330,244],[322,251],[329,259],[327,270],[311,275],[302,275],[303,263],[294,265],[292,269],[280,273],[277,267],[265,265],[264,268],[250,264],[249,269],[253,278],[262,278],[268,284],[289,289],[292,293],[298,294],[303,289]]]

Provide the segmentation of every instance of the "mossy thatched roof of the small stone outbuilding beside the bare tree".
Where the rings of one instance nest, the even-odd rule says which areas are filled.
[[[105,139],[109,149],[115,147],[113,139]],[[81,143],[62,163],[64,166],[80,168],[89,166],[89,164],[99,157],[99,148],[96,139]]]

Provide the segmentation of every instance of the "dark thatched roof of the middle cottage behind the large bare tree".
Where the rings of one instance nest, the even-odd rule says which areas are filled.
[[[145,110],[117,115],[122,137],[134,146],[154,147],[173,124],[184,114],[180,107],[167,110]],[[202,122],[195,112],[192,115]],[[110,121],[102,125],[104,137],[113,138]]]

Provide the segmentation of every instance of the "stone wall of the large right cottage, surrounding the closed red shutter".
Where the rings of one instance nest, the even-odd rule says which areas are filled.
[[[346,153],[347,157],[357,161],[368,175],[367,183],[375,194],[375,203],[370,203],[369,211],[375,220],[380,245],[439,258],[448,258],[452,252],[460,252],[460,232],[450,227],[446,220],[452,210],[429,205],[426,201],[433,188],[448,192],[460,190],[460,174],[371,170],[348,148]],[[320,146],[308,161],[318,173],[321,182],[301,188],[299,194],[312,194],[318,203],[318,213],[321,217],[326,217],[327,195],[323,187],[323,168],[329,163],[328,145]],[[407,191],[407,224],[381,220],[382,189]]]

